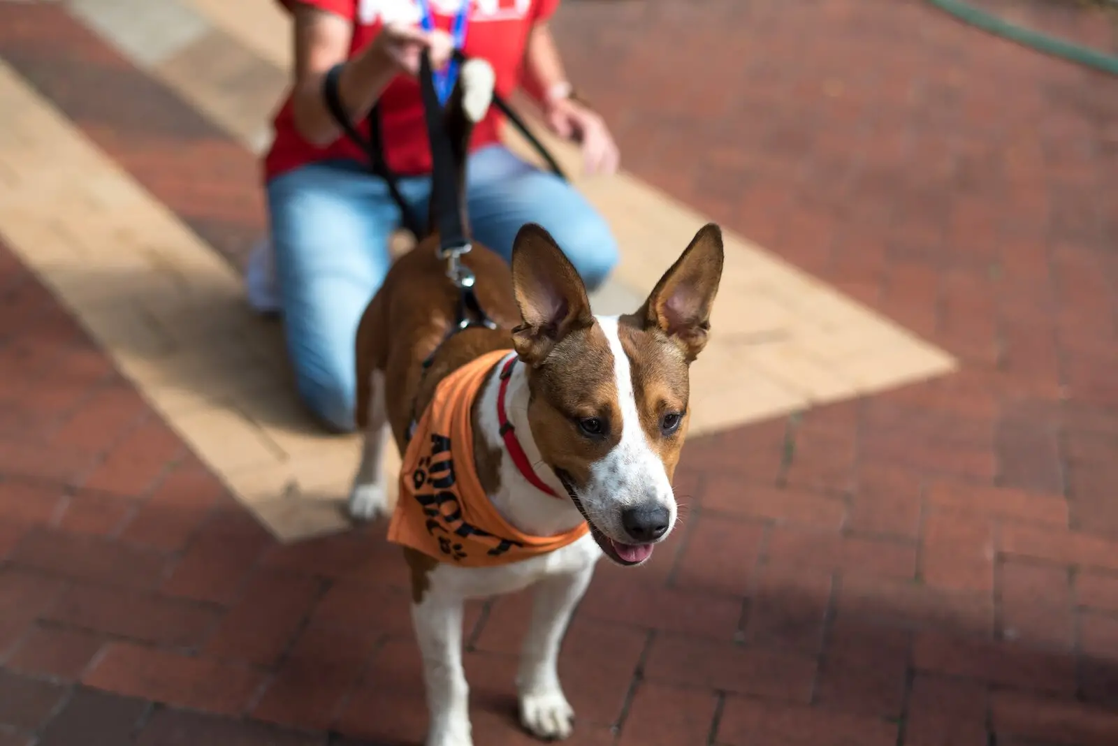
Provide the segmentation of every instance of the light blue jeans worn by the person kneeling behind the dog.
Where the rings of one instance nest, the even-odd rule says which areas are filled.
[[[503,255],[525,222],[555,237],[588,289],[617,264],[605,220],[572,187],[521,161],[503,145],[470,157],[467,209],[474,238]],[[430,179],[400,180],[420,219]],[[275,271],[287,352],[299,393],[339,431],[354,427],[354,338],[361,314],[390,265],[388,240],[400,211],[388,185],[352,161],[312,163],[267,185]]]

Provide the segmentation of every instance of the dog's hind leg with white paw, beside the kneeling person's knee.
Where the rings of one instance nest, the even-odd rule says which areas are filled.
[[[385,370],[373,335],[382,333],[379,323],[382,304],[373,298],[361,317],[357,332],[357,423],[363,431],[361,465],[353,477],[349,515],[354,520],[372,520],[388,513],[385,484],[385,436],[388,432],[388,407]]]

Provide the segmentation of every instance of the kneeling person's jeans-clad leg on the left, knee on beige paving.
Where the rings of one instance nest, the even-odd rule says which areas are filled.
[[[358,164],[324,162],[267,187],[287,353],[299,393],[328,425],[354,428],[354,339],[389,267],[399,210]]]

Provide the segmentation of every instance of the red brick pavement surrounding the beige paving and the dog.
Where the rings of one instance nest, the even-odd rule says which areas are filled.
[[[690,443],[685,529],[572,623],[574,743],[1118,743],[1115,80],[900,0],[558,26],[634,171],[964,362]],[[207,238],[258,226],[247,156],[60,9],[0,4],[0,51]],[[0,296],[0,745],[417,743],[378,532],[276,545],[7,250]],[[523,609],[468,620],[479,744],[529,743]]]

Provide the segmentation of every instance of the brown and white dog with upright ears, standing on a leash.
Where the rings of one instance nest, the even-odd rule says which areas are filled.
[[[447,106],[462,173],[470,131],[487,111],[492,86],[492,68],[470,60]],[[605,554],[638,565],[675,523],[672,476],[688,430],[689,365],[707,343],[722,271],[721,232],[703,227],[644,305],[608,318],[591,314],[581,279],[542,228],[521,229],[511,275],[496,254],[474,245],[463,260],[476,276],[481,306],[501,328],[471,327],[445,342],[458,290],[436,256],[437,240],[428,236],[392,266],[358,329],[364,450],[349,510],[357,519],[388,510],[380,453],[389,427],[402,453],[413,418],[427,409],[440,381],[485,353],[506,350],[517,358],[504,381],[494,365],[470,405],[472,467],[492,506],[523,534],[553,536],[582,522],[589,532],[553,552],[485,567],[405,549],[426,679],[427,746],[472,744],[464,601],[530,585],[534,610],[517,682],[520,717],[540,738],[565,738],[574,711],[557,658],[595,563]],[[424,371],[423,361],[436,350]],[[527,459],[513,458],[502,437],[502,393],[501,411]]]

